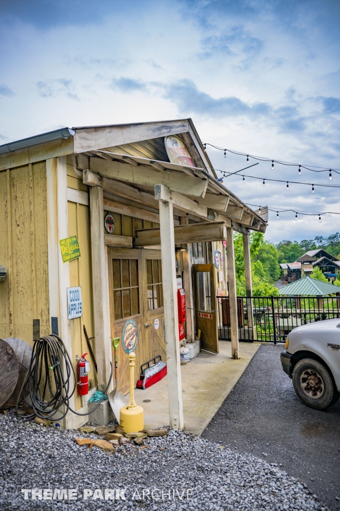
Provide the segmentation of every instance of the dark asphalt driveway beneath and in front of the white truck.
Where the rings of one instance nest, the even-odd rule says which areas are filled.
[[[260,346],[202,436],[281,463],[340,511],[340,401],[326,411],[305,406],[282,370],[282,350]]]

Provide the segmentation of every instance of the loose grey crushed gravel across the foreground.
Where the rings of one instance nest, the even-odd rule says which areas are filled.
[[[146,449],[129,445],[109,454],[76,445],[74,438],[81,436],[79,432],[13,423],[4,415],[0,415],[0,431],[2,510],[325,511],[307,485],[288,476],[277,463],[269,464],[251,454],[240,454],[182,432],[171,431],[168,436],[150,438]],[[75,489],[78,500],[32,500],[31,493],[24,500],[21,490],[35,488],[52,489],[50,495],[54,495],[55,489]],[[155,488],[163,489],[163,499],[149,500],[147,492],[142,498],[143,489]],[[92,490],[93,497],[100,497],[96,489],[103,495],[105,489],[127,489],[126,500],[90,497],[84,502],[84,489]],[[135,490],[141,499],[132,499]],[[174,496],[169,490],[175,490],[175,499],[169,499]],[[46,495],[49,496],[48,492]],[[160,491],[154,492],[156,498],[160,495]]]

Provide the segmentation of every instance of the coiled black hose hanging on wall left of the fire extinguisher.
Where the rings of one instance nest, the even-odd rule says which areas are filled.
[[[105,398],[112,380],[112,372],[111,362],[111,376],[103,398],[90,413],[94,412]],[[75,383],[71,389],[72,374]],[[58,335],[41,337],[33,344],[30,366],[16,403],[17,415],[19,415],[18,403],[21,393],[25,403],[34,411],[32,414],[19,415],[23,422],[30,421],[35,416],[40,419],[60,421],[69,411],[76,415],[88,415],[88,412],[78,413],[72,410],[69,404],[70,398],[75,393],[77,381],[72,361],[62,339]],[[62,406],[64,406],[63,414],[54,418],[58,411],[60,413]]]

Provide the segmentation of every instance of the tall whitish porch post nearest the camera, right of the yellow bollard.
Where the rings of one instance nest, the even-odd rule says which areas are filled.
[[[177,314],[173,205],[159,201],[164,324],[170,427],[183,429],[182,375]]]

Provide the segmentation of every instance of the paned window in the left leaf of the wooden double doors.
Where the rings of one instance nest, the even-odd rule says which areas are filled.
[[[138,261],[113,259],[114,319],[139,314]]]

